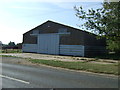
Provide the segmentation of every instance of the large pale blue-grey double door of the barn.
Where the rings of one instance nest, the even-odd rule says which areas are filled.
[[[59,35],[40,34],[38,36],[38,53],[59,54]]]

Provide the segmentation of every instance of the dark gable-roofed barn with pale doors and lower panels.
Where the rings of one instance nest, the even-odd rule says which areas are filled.
[[[105,53],[105,39],[95,34],[53,21],[33,28],[23,34],[23,52],[90,56]]]

